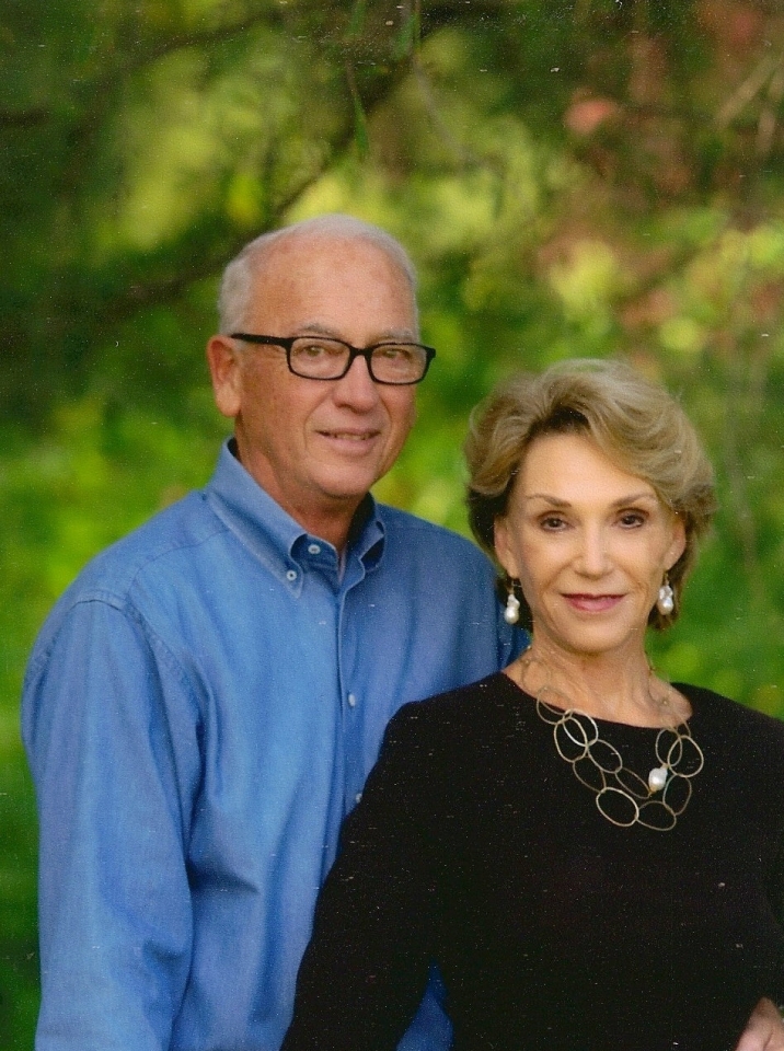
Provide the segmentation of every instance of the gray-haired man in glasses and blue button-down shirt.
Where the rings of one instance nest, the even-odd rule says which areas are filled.
[[[212,480],[88,566],[25,680],[39,1051],[275,1051],[388,719],[519,645],[475,548],[369,495],[433,357],[400,245],[347,217],[267,234],[220,305]]]

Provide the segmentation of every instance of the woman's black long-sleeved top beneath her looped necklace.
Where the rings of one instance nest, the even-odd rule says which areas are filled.
[[[385,1051],[435,961],[456,1051],[730,1051],[784,1002],[784,723],[678,685],[705,763],[618,828],[504,674],[390,724],[319,899],[284,1051]],[[657,730],[597,720],[647,777]]]

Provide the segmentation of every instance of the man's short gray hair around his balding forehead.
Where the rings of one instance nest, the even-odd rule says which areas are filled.
[[[245,325],[247,308],[253,294],[253,284],[273,247],[288,238],[312,238],[326,240],[334,238],[339,241],[367,241],[380,249],[405,276],[411,286],[412,300],[416,315],[416,269],[400,241],[390,233],[371,222],[364,222],[354,216],[332,212],[316,216],[314,219],[303,219],[290,227],[270,230],[255,238],[234,256],[223,270],[218,296],[218,313],[220,315],[220,332],[230,335],[241,332]],[[279,333],[273,333],[279,335]]]

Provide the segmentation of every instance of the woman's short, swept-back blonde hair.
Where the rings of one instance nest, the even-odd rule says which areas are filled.
[[[662,615],[654,607],[648,617],[653,627],[667,627],[678,615],[696,543],[716,509],[713,469],[694,427],[664,388],[620,361],[562,361],[500,384],[474,409],[465,440],[469,520],[493,558],[495,522],[507,512],[526,451],[535,438],[552,434],[588,436],[616,466],[644,478],[683,522],[685,548],[669,570],[675,610]],[[505,579],[504,590],[509,587]],[[521,623],[530,628],[519,586],[516,593]]]

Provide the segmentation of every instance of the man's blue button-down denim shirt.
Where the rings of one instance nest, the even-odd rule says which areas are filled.
[[[23,698],[42,1051],[278,1048],[387,721],[514,656],[492,578],[372,498],[341,566],[228,447],[84,569]]]

